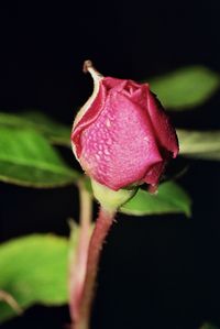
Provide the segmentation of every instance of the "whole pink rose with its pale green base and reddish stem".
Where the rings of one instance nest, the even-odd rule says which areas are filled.
[[[91,178],[100,211],[82,263],[79,240],[82,271],[72,292],[76,328],[89,327],[100,251],[116,212],[139,185],[147,183],[155,189],[167,162],[178,153],[175,130],[148,85],[102,77],[89,61],[85,70],[95,89],[75,119],[72,144]]]

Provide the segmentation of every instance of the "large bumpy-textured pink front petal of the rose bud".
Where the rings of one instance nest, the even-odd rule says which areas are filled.
[[[80,162],[88,175],[116,190],[143,179],[162,161],[148,121],[142,108],[111,90],[103,111],[81,131]]]

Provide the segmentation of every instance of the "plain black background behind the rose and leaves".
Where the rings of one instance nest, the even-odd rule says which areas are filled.
[[[219,72],[219,1],[1,2],[0,110],[38,109],[70,124],[92,87],[81,73],[87,58],[105,75],[132,79],[187,64]],[[220,129],[219,106],[216,95],[200,109],[172,117],[178,127]],[[94,328],[220,326],[219,164],[186,163],[180,183],[194,198],[191,219],[118,216],[101,260]],[[72,187],[0,184],[0,194],[1,241],[68,234],[66,219],[78,217]],[[68,321],[67,307],[37,306],[2,328],[63,328]]]

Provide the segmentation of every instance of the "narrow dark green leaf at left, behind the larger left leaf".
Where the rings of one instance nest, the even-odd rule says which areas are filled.
[[[20,114],[0,112],[1,127],[33,129],[44,134],[53,144],[70,146],[70,127],[56,122],[37,111],[26,111]]]

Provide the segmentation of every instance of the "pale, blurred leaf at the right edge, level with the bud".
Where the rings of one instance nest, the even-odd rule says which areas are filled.
[[[220,161],[220,131],[178,129],[180,155]]]

